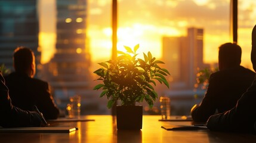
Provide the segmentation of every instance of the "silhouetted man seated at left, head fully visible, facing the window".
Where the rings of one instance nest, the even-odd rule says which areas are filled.
[[[57,119],[59,110],[47,82],[35,76],[35,55],[29,48],[18,47],[13,55],[14,69],[5,77],[13,105],[23,110],[33,111],[36,105],[45,119]]]

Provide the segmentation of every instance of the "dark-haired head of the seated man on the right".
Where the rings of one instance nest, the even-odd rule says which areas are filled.
[[[224,70],[240,66],[242,49],[236,43],[224,43],[218,51],[218,68]]]

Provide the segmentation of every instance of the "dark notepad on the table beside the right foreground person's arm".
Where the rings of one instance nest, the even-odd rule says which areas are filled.
[[[166,130],[202,130],[208,129],[206,126],[194,126],[194,125],[182,125],[182,126],[175,126],[175,125],[166,125],[161,126],[161,128]]]

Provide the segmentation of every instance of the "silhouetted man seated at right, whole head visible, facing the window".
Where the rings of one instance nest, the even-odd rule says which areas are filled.
[[[206,122],[217,113],[223,113],[236,105],[254,80],[255,73],[240,66],[242,49],[236,43],[224,43],[219,47],[218,67],[220,71],[209,77],[209,86],[201,104],[191,110],[195,122]]]

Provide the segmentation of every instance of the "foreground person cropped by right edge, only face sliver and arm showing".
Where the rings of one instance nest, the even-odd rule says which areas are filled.
[[[256,25],[252,30],[251,61],[256,71]],[[233,90],[236,90],[235,88]],[[221,114],[209,117],[206,126],[215,131],[255,132],[256,131],[256,78],[238,100],[235,107]]]

